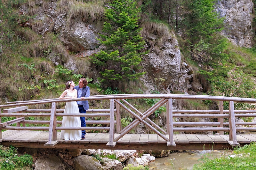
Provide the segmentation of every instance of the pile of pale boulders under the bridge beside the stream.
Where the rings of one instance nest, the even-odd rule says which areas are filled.
[[[22,148],[23,153],[33,155],[36,170],[50,169],[88,169],[88,170],[122,170],[124,166],[148,166],[155,157],[147,152],[139,157],[136,150],[93,150],[93,149],[33,149]],[[148,151],[150,152],[150,151]],[[169,153],[169,152],[168,152]],[[58,155],[58,156],[57,156]],[[108,157],[114,158],[110,159]],[[168,156],[168,155],[166,155]],[[96,159],[97,158],[97,159]]]

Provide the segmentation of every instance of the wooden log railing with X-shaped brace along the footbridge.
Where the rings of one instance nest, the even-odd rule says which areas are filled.
[[[154,106],[150,107],[144,113],[141,113],[135,106],[127,102],[127,99],[160,99]],[[173,110],[172,100],[173,99],[191,99],[191,100],[215,100],[220,102],[219,110]],[[0,129],[16,129],[16,130],[49,130],[49,140],[45,145],[54,145],[57,141],[57,130],[109,130],[109,142],[108,146],[115,146],[116,142],[124,137],[125,134],[130,132],[135,128],[140,122],[149,127],[155,134],[164,139],[168,146],[175,146],[174,142],[174,132],[202,132],[202,131],[212,131],[218,132],[223,135],[224,132],[228,132],[229,140],[228,143],[231,145],[239,145],[236,139],[236,130],[256,130],[255,127],[236,127],[238,125],[255,125],[255,123],[248,122],[235,122],[236,117],[256,117],[255,110],[235,110],[234,102],[247,102],[255,103],[255,99],[249,98],[234,98],[234,97],[222,97],[222,96],[204,96],[204,95],[177,95],[177,94],[117,94],[117,95],[99,95],[90,96],[84,100],[109,100],[110,106],[107,113],[93,113],[90,114],[90,109],[87,110],[86,114],[63,114],[63,110],[56,109],[57,102],[67,102],[67,101],[78,101],[81,99],[50,99],[50,100],[31,100],[31,101],[20,101],[15,103],[8,103],[7,105],[1,105],[0,109],[4,107],[14,107],[9,109],[3,109],[3,116],[15,116],[16,119],[8,122],[0,122]],[[229,102],[229,110],[223,110],[223,101]],[[28,105],[35,104],[45,104],[52,103],[51,109],[43,110],[33,110],[28,109]],[[166,131],[156,125],[148,117],[153,114],[159,107],[166,105]],[[15,107],[16,106],[16,107]],[[19,107],[17,107],[19,106]],[[115,109],[116,107],[116,109]],[[132,117],[135,118],[128,126],[122,129],[121,127],[121,109],[126,110]],[[61,111],[60,111],[61,110]],[[92,109],[93,110],[93,109]],[[51,114],[41,112],[50,111]],[[96,109],[95,109],[96,111]],[[18,113],[14,113],[18,112]],[[39,112],[39,113],[29,113],[29,112]],[[62,113],[61,113],[62,112]],[[102,109],[96,112],[103,112]],[[49,127],[25,127],[25,123],[46,123],[44,121],[29,121],[25,120],[26,116],[50,116]],[[109,116],[109,121],[105,121],[106,124],[109,123],[109,127],[59,127],[60,121],[57,121],[57,116]],[[174,122],[174,118],[218,118],[217,122]],[[116,118],[116,120],[115,120]],[[224,122],[224,118],[228,119],[228,122]],[[1,121],[1,119],[0,119]],[[16,123],[16,127],[9,126]],[[20,127],[20,123],[23,124]],[[89,121],[86,121],[88,124]],[[95,124],[95,122],[93,123]],[[115,128],[116,125],[116,128]],[[191,127],[192,126],[192,127]],[[205,127],[207,126],[207,127]],[[116,134],[116,135],[115,135]],[[0,140],[2,139],[2,134],[0,132]]]

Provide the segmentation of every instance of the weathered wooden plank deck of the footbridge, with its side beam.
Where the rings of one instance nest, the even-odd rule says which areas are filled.
[[[117,137],[119,134],[115,134]],[[168,138],[168,135],[165,135]],[[240,145],[256,141],[255,134],[237,134]],[[194,135],[175,134],[176,146],[167,146],[167,141],[157,134],[126,134],[117,141],[115,147],[107,146],[108,133],[86,133],[84,140],[65,141],[60,139],[54,146],[44,146],[48,142],[48,131],[6,130],[2,132],[2,145],[30,148],[88,148],[88,149],[128,149],[128,150],[204,150],[207,144],[210,149],[232,149],[228,144],[228,135]]]

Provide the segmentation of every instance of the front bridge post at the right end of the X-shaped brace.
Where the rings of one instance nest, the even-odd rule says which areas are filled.
[[[168,99],[166,104],[166,124],[167,124],[167,134],[169,134],[169,141],[167,146],[176,146],[173,139],[173,121],[172,121],[172,99]]]

